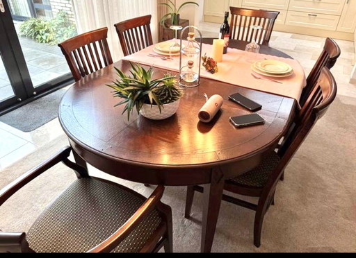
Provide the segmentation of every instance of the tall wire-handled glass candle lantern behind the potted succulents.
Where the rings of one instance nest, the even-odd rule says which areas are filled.
[[[186,26],[181,31],[181,35],[188,28],[194,28],[195,31],[200,31],[195,26]],[[200,85],[200,65],[202,59],[202,33],[200,33],[200,43],[195,40],[195,33],[188,33],[188,42],[182,42],[179,58],[179,85],[183,87],[196,87]]]

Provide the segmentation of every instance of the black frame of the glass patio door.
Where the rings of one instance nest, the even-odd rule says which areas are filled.
[[[5,12],[0,12],[0,53],[15,96],[5,101],[0,100],[0,115],[74,82],[72,74],[69,73],[33,87],[8,1],[2,1]]]

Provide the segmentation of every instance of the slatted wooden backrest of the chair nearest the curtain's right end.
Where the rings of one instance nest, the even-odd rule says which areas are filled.
[[[152,15],[128,19],[115,24],[124,55],[131,55],[153,44],[151,28]]]

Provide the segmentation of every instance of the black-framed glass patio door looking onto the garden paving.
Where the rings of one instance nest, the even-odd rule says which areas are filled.
[[[71,0],[0,0],[0,114],[72,80],[57,46],[76,35]]]

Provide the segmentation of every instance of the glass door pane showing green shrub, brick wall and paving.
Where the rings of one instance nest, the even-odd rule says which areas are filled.
[[[8,0],[8,3],[33,87],[69,74],[57,44],[77,34],[71,1]]]

